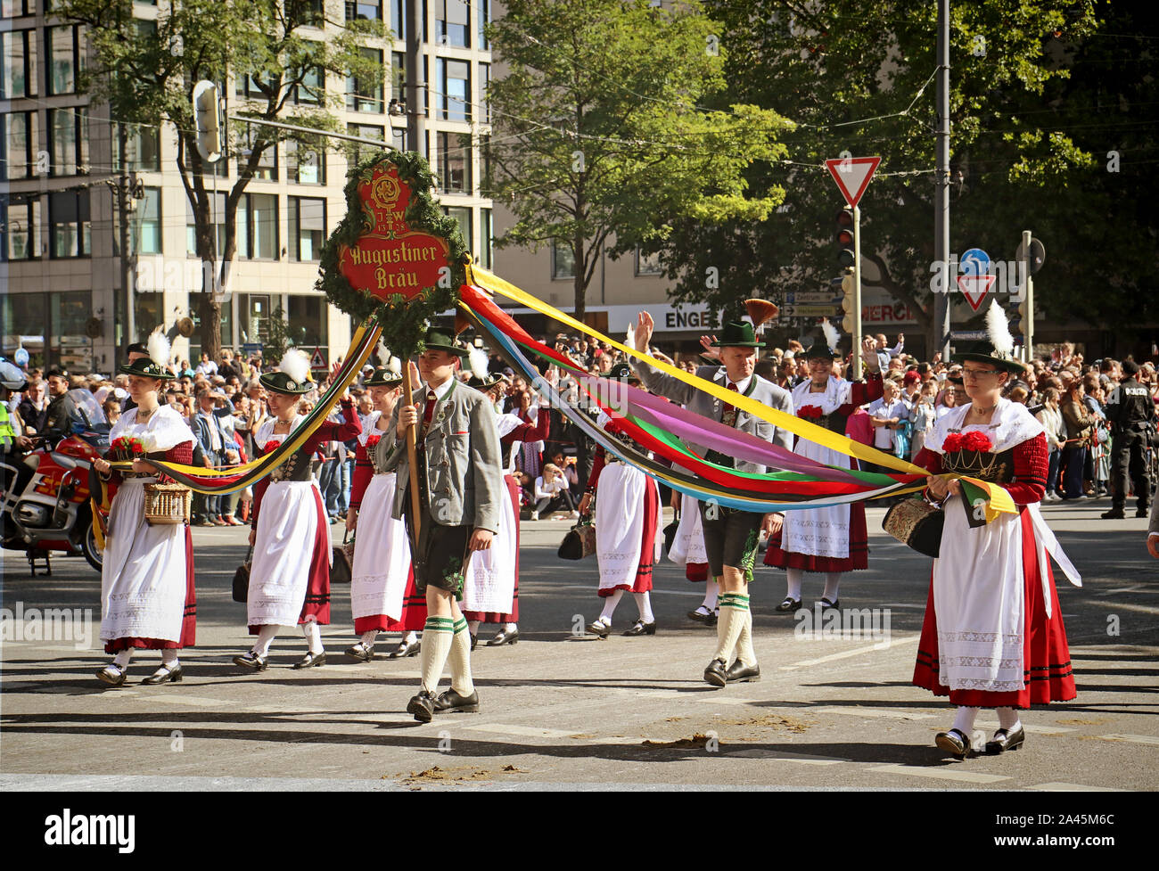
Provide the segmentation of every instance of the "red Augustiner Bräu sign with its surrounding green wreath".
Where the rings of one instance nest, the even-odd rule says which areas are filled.
[[[396,181],[409,191],[399,193],[400,185],[395,184],[393,174],[385,182],[385,188],[384,184],[376,185],[376,182],[384,182],[381,176],[392,167],[396,171]],[[314,285],[347,314],[359,321],[377,320],[382,328],[382,342],[392,353],[403,359],[421,352],[428,324],[439,313],[454,308],[459,287],[466,279],[465,265],[471,262],[459,222],[443,213],[431,196],[435,176],[430,166],[414,152],[381,151],[351,167],[344,189],[347,215],[322,246],[319,278]],[[384,205],[378,193],[382,189],[400,198],[409,193],[404,211],[389,212],[389,206]],[[395,220],[402,215],[403,221],[392,222],[392,214]],[[382,290],[381,285],[378,290],[355,287],[343,273],[343,263],[349,268],[350,249],[366,246],[367,240],[372,240],[371,244],[388,246],[399,240],[410,241],[415,236],[423,239],[423,234],[433,236],[431,241],[442,240],[447,250],[446,266],[439,270],[437,278],[425,275],[417,286],[392,292]],[[396,246],[393,254],[399,254]],[[387,263],[385,259],[376,262]],[[396,268],[389,266],[391,271]],[[384,278],[386,269],[384,265],[378,270]]]

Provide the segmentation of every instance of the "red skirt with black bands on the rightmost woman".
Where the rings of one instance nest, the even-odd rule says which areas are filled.
[[[1032,704],[1069,702],[1074,698],[1074,674],[1071,671],[1071,652],[1063,627],[1063,612],[1055,590],[1055,576],[1047,564],[1050,580],[1050,613],[1042,593],[1038,574],[1037,546],[1034,526],[1028,511],[1021,512],[1022,522],[1022,577],[1025,579],[1023,613],[1026,627],[1022,637],[1022,689],[1008,693],[991,693],[982,689],[950,689],[938,682],[938,621],[934,613],[934,584],[931,572],[930,594],[926,599],[926,616],[921,623],[918,641],[918,661],[913,668],[914,686],[928,689],[938,696],[949,696],[953,704],[968,708],[1029,708]]]

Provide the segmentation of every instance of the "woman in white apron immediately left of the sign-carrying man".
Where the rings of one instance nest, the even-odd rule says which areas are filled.
[[[357,535],[350,573],[350,610],[355,632],[360,636],[347,656],[359,663],[374,658],[379,632],[399,631],[408,579],[413,583],[407,529],[391,515],[398,485],[395,473],[374,467],[374,446],[389,426],[401,385],[402,375],[388,368],[374,369],[363,382],[374,409],[362,418],[347,513],[347,530]]]

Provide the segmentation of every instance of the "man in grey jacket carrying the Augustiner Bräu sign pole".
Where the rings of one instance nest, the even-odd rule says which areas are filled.
[[[498,430],[490,400],[455,378],[467,350],[450,332],[427,331],[418,356],[423,386],[414,405],[399,403],[394,426],[378,442],[377,464],[398,470],[393,515],[406,519],[411,539],[415,585],[427,595],[422,686],[407,705],[420,723],[436,711],[478,711],[471,676],[471,636],[459,609],[467,561],[491,547],[500,528],[503,486]],[[418,508],[410,500],[406,433],[418,426]],[[415,541],[415,519],[418,539]],[[435,695],[443,666],[451,660],[451,688]]]

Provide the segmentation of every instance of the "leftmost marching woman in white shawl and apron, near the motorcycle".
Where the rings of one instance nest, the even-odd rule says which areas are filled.
[[[153,460],[189,464],[194,433],[180,413],[158,402],[162,382],[174,376],[166,368],[169,343],[154,332],[148,350],[148,357],[119,368],[129,375],[129,394],[137,407],[114,425],[110,445],[123,446],[117,454],[140,452]],[[101,641],[104,652],[115,656],[96,676],[119,687],[134,650],[160,650],[161,667],[141,683],[177,682],[182,679],[177,651],[192,646],[197,625],[189,525],[146,521],[145,485],[168,481],[153,466],[134,459],[132,471],[114,473],[107,460],[97,459],[93,467],[117,484],[101,569]]]

